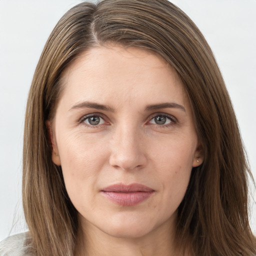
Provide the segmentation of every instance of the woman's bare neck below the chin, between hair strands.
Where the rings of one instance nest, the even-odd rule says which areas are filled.
[[[80,222],[75,256],[184,255],[175,246],[175,226],[166,223],[170,220],[141,237],[112,236],[87,221]]]

